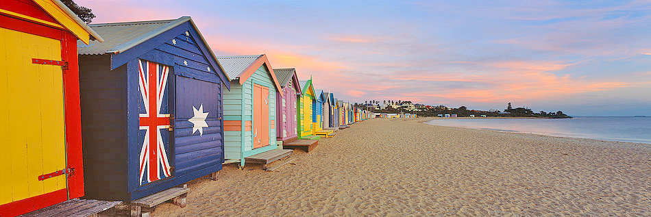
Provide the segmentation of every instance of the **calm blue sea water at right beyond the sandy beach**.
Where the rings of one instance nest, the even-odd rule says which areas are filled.
[[[430,125],[651,144],[651,117],[442,118]]]

